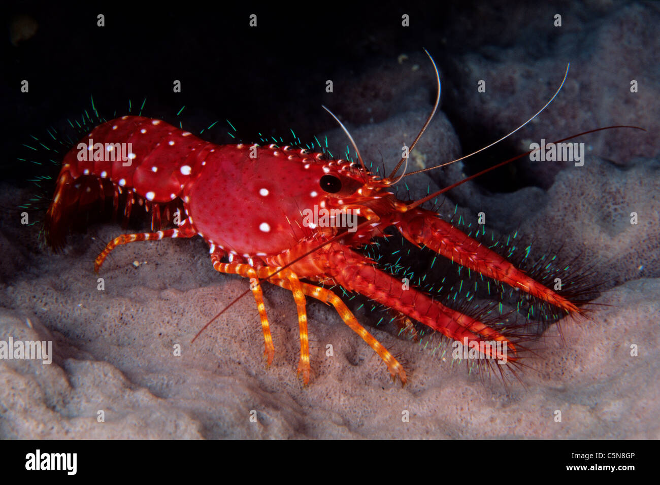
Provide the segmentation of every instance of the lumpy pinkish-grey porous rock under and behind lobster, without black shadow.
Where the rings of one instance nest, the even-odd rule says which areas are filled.
[[[562,243],[564,257],[579,255],[608,282],[589,320],[564,319],[563,339],[556,326],[548,329],[537,355],[525,361],[524,385],[484,381],[396,337],[387,325],[368,327],[403,356],[410,380],[402,388],[334,309],[308,300],[313,375],[304,387],[295,372],[296,307],[289,292],[275,287],[265,289],[276,349],[270,368],[249,295],[191,344],[201,326],[248,288],[242,278],[215,273],[200,238],[119,247],[96,275],[99,241],[120,234],[119,226],[94,225],[54,254],[39,244],[36,226],[18,223],[13,209],[32,192],[9,179],[0,191],[6,209],[0,214],[0,340],[53,340],[55,356],[46,366],[0,360],[0,437],[659,438],[660,72],[654,56],[660,13],[651,3],[576,5],[562,7],[565,32],[544,49],[520,34],[529,34],[523,25],[535,18],[531,7],[504,9],[507,15],[497,6],[474,9],[472,16],[464,10],[452,29],[424,37],[424,46],[442,52],[443,79],[441,110],[416,152],[426,166],[490,143],[524,121],[552,96],[567,60],[571,70],[558,98],[498,157],[522,152],[530,141],[595,127],[647,129],[578,140],[588,150],[583,167],[527,160],[490,185],[469,182],[449,193],[444,211],[458,205],[471,220],[485,210],[490,227],[502,234],[519,229],[541,245]],[[540,29],[534,39],[547,39],[553,28],[550,20],[545,30],[538,20],[531,24]],[[466,39],[481,47],[451,57],[441,45],[464,30],[479,32]],[[397,59],[400,54],[407,58]],[[391,166],[401,143],[414,137],[434,95],[429,71],[420,50],[383,49],[344,79],[341,100],[331,108],[347,121],[365,158],[380,163],[382,156]],[[240,83],[240,73],[233,77]],[[479,79],[487,81],[485,94],[476,91]],[[634,94],[631,79],[639,85]],[[231,113],[218,116],[225,115]],[[320,106],[306,115],[325,116]],[[345,145],[330,126],[323,125],[331,145]],[[407,179],[411,193],[460,179],[469,163]],[[513,182],[498,191],[505,179]],[[630,212],[637,212],[637,225],[630,224]],[[98,277],[104,291],[97,290]],[[373,325],[364,308],[356,316]],[[175,344],[181,356],[173,355]],[[333,356],[326,356],[327,344]],[[630,355],[632,344],[638,356]],[[105,422],[98,422],[99,410]],[[402,421],[405,410],[409,422]]]

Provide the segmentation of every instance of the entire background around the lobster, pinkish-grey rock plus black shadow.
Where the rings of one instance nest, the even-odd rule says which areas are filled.
[[[2,362],[0,437],[659,437],[657,3],[234,3],[174,10],[27,2],[1,9],[0,338],[52,339],[56,356],[52,366]],[[106,16],[104,28],[96,27],[98,13]],[[257,28],[248,26],[251,13]],[[401,26],[404,13],[409,28]],[[561,28],[553,26],[557,13]],[[32,35],[30,26],[38,26]],[[451,213],[457,206],[466,221],[486,210],[488,228],[499,234],[520,228],[541,246],[560,243],[564,257],[579,256],[614,288],[597,300],[601,310],[591,320],[562,323],[563,341],[556,327],[548,330],[539,358],[527,361],[527,388],[484,384],[414,342],[373,329],[403,353],[412,376],[405,389],[391,387],[373,352],[333,310],[314,303],[315,375],[302,388],[295,377],[296,311],[279,288],[266,291],[277,351],[271,369],[261,362],[249,298],[189,344],[246,288],[244,280],[213,271],[201,240],[115,251],[102,275],[107,289],[98,292],[96,246],[118,226],[94,226],[53,255],[40,247],[36,226],[18,224],[18,205],[34,196],[29,179],[42,170],[16,162],[30,154],[22,144],[49,126],[65,128],[67,118],[89,110],[90,96],[107,118],[127,113],[128,100],[135,112],[146,96],[143,115],[205,129],[203,137],[216,143],[232,140],[229,119],[246,141],[259,132],[286,139],[294,129],[303,141],[327,134],[341,154],[347,142],[325,104],[347,123],[364,158],[391,166],[435,96],[422,48],[438,63],[442,100],[413,156],[420,166],[502,137],[552,96],[566,63],[571,69],[548,109],[501,145],[405,179],[413,197],[541,138],[607,125],[647,129],[578,140],[588,150],[582,168],[520,160],[451,191],[441,208]],[[19,91],[22,79],[29,94]],[[182,81],[181,94],[172,92],[174,79]],[[484,94],[477,92],[480,79]],[[632,79],[638,93],[630,92]],[[49,158],[44,150],[38,156]],[[632,211],[637,226],[630,225]],[[133,261],[148,264],[135,268]],[[365,309],[357,316],[369,320]],[[174,342],[182,342],[181,359],[172,358]],[[325,358],[327,342],[335,358]],[[640,344],[640,358],[630,358],[631,343]],[[105,428],[96,424],[100,407],[112,410]],[[247,423],[253,408],[258,426]],[[405,429],[402,408],[413,413]],[[552,421],[558,408],[566,416],[560,425]]]

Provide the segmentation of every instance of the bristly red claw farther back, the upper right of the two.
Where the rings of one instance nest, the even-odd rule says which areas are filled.
[[[504,282],[559,307],[568,313],[579,308],[563,296],[531,278],[498,253],[473,240],[430,210],[405,212],[399,232],[414,245],[425,245],[436,253],[484,276]]]

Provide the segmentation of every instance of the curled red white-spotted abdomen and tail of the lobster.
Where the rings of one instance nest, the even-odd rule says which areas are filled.
[[[123,209],[125,220],[135,203],[153,208],[152,228],[160,226],[161,210],[170,218],[174,206],[182,206],[178,199],[215,146],[147,117],[123,116],[98,125],[65,155],[46,213],[46,241],[62,247],[80,214],[98,210],[108,198],[114,213]]]

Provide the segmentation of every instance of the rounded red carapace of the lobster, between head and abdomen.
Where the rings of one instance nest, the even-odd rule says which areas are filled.
[[[259,146],[250,158],[254,149],[217,146],[184,201],[207,241],[240,255],[281,253],[314,234],[301,212],[325,206],[328,168],[300,149]]]

